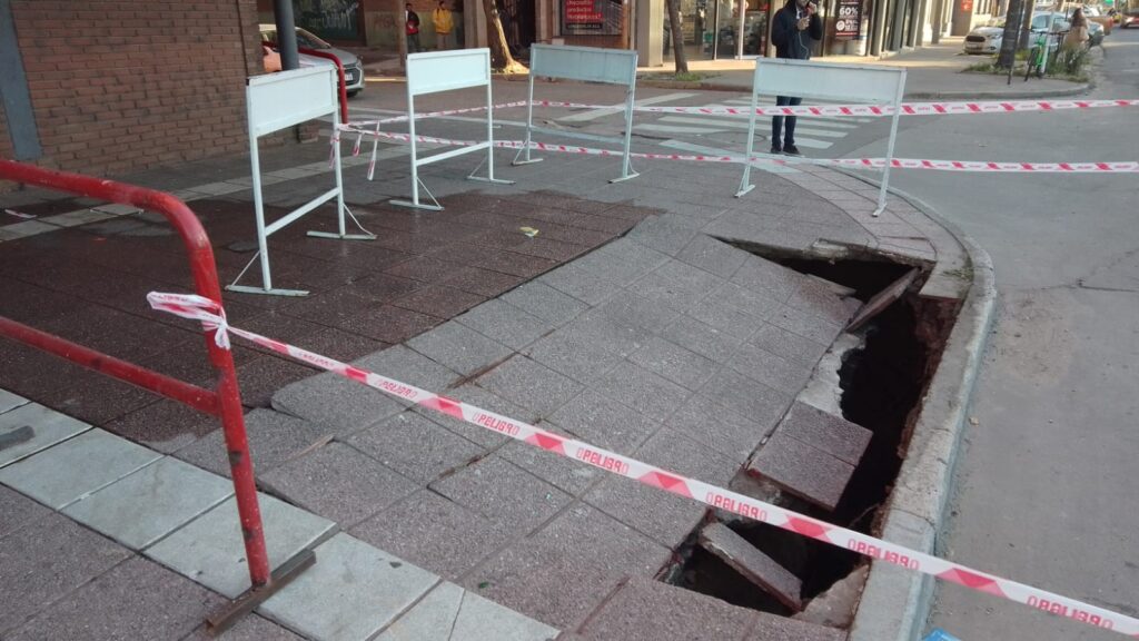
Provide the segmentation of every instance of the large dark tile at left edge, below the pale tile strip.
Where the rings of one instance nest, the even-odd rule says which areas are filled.
[[[0,603],[3,603],[0,608],[0,634],[5,639],[25,619],[131,555],[130,550],[62,514],[49,512],[35,521],[35,527],[15,532],[8,529],[11,522],[9,512],[3,514],[3,527],[0,527],[0,534],[3,534],[0,539]]]

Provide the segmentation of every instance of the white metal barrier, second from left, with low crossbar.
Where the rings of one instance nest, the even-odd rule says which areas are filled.
[[[469,147],[449,149],[420,159],[416,141],[416,96],[439,94],[472,87],[486,87],[486,140]],[[427,186],[419,179],[419,168],[426,164],[444,161],[486,149],[486,178],[476,177],[475,172],[482,163],[470,172],[469,180],[484,180],[502,185],[513,185],[513,180],[494,178],[494,114],[491,97],[491,50],[462,49],[458,51],[434,51],[431,54],[411,54],[408,56],[408,131],[411,144],[411,200],[393,200],[394,205],[411,206],[440,211],[443,209]],[[434,204],[419,202],[419,186],[423,185],[427,196]]]

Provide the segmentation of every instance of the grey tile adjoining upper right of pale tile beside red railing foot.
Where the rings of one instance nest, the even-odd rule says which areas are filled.
[[[511,536],[495,522],[429,489],[421,489],[357,525],[352,536],[456,581]]]

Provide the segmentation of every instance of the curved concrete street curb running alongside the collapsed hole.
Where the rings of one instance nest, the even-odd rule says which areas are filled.
[[[989,253],[954,224],[920,198],[890,192],[949,232],[961,243],[973,267],[969,293],[926,390],[882,532],[883,539],[936,554],[974,386],[995,318],[995,274]],[[872,563],[847,640],[919,639],[933,607],[933,591],[932,576]]]

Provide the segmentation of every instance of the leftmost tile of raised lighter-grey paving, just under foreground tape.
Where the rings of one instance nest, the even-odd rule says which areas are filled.
[[[395,398],[326,372],[286,386],[273,393],[272,407],[311,423],[328,425],[337,433],[352,433],[407,406]]]

